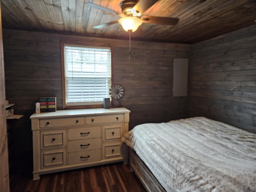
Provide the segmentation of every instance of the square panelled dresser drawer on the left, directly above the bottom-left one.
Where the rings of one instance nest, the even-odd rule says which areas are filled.
[[[40,132],[41,149],[66,146],[66,130]]]

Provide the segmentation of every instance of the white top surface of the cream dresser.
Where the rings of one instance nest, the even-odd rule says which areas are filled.
[[[42,112],[34,113],[30,116],[30,119],[38,118],[57,118],[63,116],[84,116],[84,115],[100,115],[100,114],[117,114],[117,113],[130,113],[130,110],[126,108],[93,108],[93,109],[71,109],[71,110],[57,110],[55,112]]]

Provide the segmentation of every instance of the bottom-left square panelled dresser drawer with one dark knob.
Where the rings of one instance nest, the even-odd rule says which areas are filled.
[[[41,168],[65,166],[67,164],[66,149],[41,151]]]

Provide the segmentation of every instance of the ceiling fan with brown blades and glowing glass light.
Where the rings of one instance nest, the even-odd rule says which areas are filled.
[[[106,12],[114,13],[121,17],[119,20],[94,26],[94,28],[97,28],[97,29],[110,26],[116,23],[121,24],[123,29],[128,32],[136,31],[142,23],[176,25],[179,21],[178,18],[143,15],[143,13],[146,10],[148,10],[148,8],[150,8],[152,5],[154,5],[156,2],[158,2],[158,0],[124,0],[120,3],[122,13],[116,12],[115,10],[108,9],[90,2],[87,2],[85,4]]]

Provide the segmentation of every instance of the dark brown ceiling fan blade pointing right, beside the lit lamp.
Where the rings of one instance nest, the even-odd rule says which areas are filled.
[[[176,25],[179,22],[179,18],[171,17],[142,16],[140,19],[143,23],[154,23],[161,25]]]

